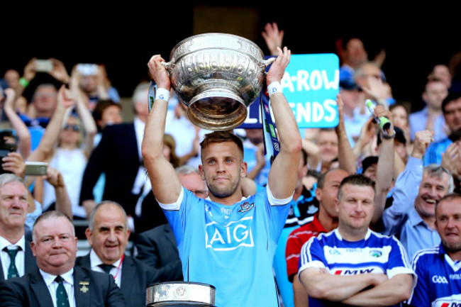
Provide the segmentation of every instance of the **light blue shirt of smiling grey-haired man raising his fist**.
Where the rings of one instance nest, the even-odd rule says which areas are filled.
[[[409,157],[405,171],[395,182],[394,202],[382,215],[384,235],[396,235],[409,257],[418,250],[440,244],[437,231],[428,227],[414,206],[422,178],[423,161]]]

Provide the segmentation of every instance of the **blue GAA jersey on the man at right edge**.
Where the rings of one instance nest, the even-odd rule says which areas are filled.
[[[411,306],[461,307],[461,262],[454,262],[440,244],[413,257],[418,283]]]

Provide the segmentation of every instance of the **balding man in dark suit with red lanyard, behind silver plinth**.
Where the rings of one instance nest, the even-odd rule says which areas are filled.
[[[76,265],[111,274],[126,306],[145,306],[146,289],[160,280],[157,270],[125,255],[130,236],[126,222],[126,213],[118,203],[103,201],[94,207],[85,233],[91,251],[78,257]]]

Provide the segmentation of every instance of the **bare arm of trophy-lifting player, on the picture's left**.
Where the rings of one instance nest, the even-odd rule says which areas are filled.
[[[170,78],[162,65],[165,60],[154,55],[149,63],[149,71],[157,84],[157,89],[170,91]],[[163,135],[168,101],[157,98],[150,110],[145,124],[142,152],[145,167],[148,169],[152,191],[160,203],[174,203],[181,193],[181,182],[172,164],[163,156]]]

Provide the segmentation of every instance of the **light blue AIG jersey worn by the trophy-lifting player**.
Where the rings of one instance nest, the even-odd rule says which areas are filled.
[[[184,281],[215,286],[218,307],[279,306],[272,261],[290,201],[264,188],[226,206],[182,188],[177,203],[160,206],[177,241]]]

